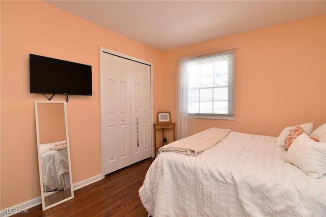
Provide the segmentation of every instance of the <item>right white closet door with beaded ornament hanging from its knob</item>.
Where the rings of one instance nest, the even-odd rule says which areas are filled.
[[[131,163],[133,164],[151,157],[150,66],[130,61],[130,90]]]

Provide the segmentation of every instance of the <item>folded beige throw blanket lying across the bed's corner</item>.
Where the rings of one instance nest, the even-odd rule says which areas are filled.
[[[230,129],[210,128],[192,136],[177,140],[162,146],[158,152],[173,151],[186,155],[197,156],[198,153],[207,150],[222,141],[230,132]]]

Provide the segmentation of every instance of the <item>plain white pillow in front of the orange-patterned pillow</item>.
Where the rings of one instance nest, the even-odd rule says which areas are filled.
[[[285,162],[300,168],[311,178],[326,174],[326,142],[316,142],[307,134],[298,136],[285,154]]]

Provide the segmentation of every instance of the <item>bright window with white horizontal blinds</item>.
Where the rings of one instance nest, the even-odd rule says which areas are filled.
[[[188,113],[234,116],[234,51],[197,57],[188,70]]]

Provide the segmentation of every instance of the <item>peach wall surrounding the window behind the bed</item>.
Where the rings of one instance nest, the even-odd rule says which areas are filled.
[[[235,120],[196,119],[210,127],[278,136],[286,126],[326,122],[326,15],[233,35],[165,53],[166,110],[176,118],[177,58],[238,46]],[[216,29],[218,30],[218,29]]]

